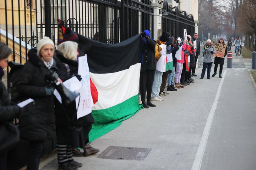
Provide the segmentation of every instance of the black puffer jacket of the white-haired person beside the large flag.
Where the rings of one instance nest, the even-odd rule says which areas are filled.
[[[71,78],[74,75],[78,74],[78,62],[74,60],[68,60],[66,59],[61,52],[58,50],[55,51],[56,57],[60,60],[61,65],[65,71],[65,80]],[[67,68],[64,65],[67,64],[69,66],[70,72],[67,72]],[[66,114],[61,107],[61,104],[56,101],[55,102],[55,116],[56,116],[56,125],[57,126],[86,126],[91,125],[94,123],[94,119],[92,114],[87,114],[84,117],[80,117],[78,120],[76,119],[76,106],[75,102],[71,104],[68,108],[66,108]],[[67,118],[69,116],[70,120],[73,118],[73,120],[69,121]]]

